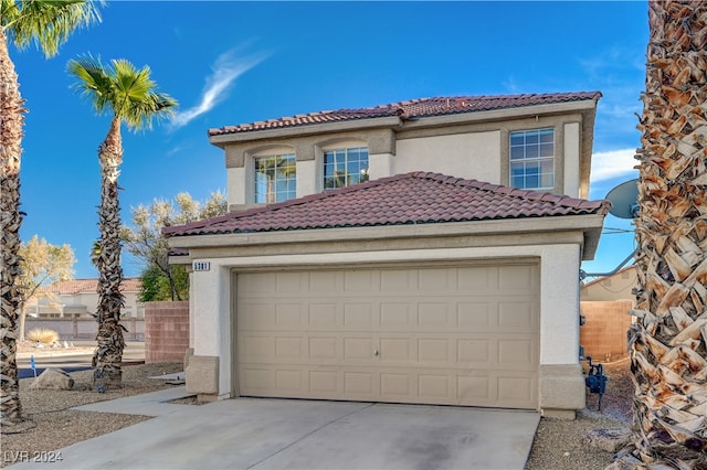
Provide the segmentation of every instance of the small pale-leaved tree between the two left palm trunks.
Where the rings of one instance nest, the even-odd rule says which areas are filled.
[[[43,298],[55,300],[51,292],[40,289],[48,284],[71,279],[74,275],[73,266],[76,263],[74,250],[71,246],[51,245],[44,238],[34,235],[28,243],[20,246],[22,273],[18,284],[23,297],[23,307],[30,300],[35,299],[38,305]],[[27,309],[20,309],[20,341],[24,341],[24,322]]]

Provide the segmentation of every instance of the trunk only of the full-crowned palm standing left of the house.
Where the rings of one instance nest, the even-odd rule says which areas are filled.
[[[101,255],[98,267],[98,343],[93,355],[93,387],[98,392],[122,386],[123,325],[120,308],[125,299],[120,292],[123,268],[120,266],[120,205],[118,201],[118,167],[123,161],[120,121],[114,119],[106,139],[98,148],[101,161]]]

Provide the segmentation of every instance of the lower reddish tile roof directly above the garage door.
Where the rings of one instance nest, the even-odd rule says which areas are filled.
[[[162,234],[180,236],[605,215],[610,207],[609,201],[584,201],[437,173],[413,172],[166,227]]]

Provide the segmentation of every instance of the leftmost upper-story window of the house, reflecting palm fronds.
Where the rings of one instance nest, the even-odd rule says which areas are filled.
[[[255,202],[272,204],[297,195],[297,162],[294,153],[255,158]]]

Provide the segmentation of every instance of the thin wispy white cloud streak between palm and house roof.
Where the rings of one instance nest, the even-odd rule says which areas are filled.
[[[177,113],[170,120],[172,128],[188,125],[192,119],[210,111],[230,95],[230,87],[238,77],[267,58],[268,54],[240,55],[239,50],[221,54],[212,66],[213,73],[207,77],[201,100],[183,111]]]

